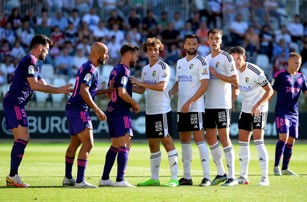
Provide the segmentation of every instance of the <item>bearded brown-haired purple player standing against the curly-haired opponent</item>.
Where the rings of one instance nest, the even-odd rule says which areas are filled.
[[[99,181],[100,186],[135,187],[124,179],[124,175],[131,147],[131,137],[133,136],[130,108],[135,113],[139,113],[141,110],[141,105],[132,98],[132,83],[129,81],[131,74],[129,68],[134,68],[138,61],[138,50],[137,46],[130,43],[122,45],[120,49],[122,61],[110,73],[108,86],[111,85],[114,78],[114,87],[118,89],[107,93],[111,99],[107,106],[106,115],[112,143],[106,155],[103,175]],[[110,180],[110,172],[116,155],[117,176],[114,183]]]

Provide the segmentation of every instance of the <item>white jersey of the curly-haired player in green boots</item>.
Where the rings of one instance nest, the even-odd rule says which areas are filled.
[[[169,82],[171,71],[169,65],[159,60],[152,67],[144,66],[141,81],[146,83]],[[163,92],[146,88],[146,114],[161,114],[172,110],[167,87]]]

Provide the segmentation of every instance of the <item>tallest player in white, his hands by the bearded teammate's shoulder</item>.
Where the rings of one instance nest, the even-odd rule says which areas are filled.
[[[211,53],[206,56],[210,70],[209,88],[205,102],[206,138],[212,159],[217,168],[217,175],[211,185],[227,181],[222,186],[236,186],[235,151],[229,139],[231,115],[231,84],[238,85],[238,72],[233,57],[220,49],[223,31],[212,28],[208,32],[208,43]],[[228,176],[222,162],[222,150],[217,141],[219,132],[223,146]]]

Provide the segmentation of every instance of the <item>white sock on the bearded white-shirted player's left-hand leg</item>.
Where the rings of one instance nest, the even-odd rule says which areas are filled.
[[[183,165],[183,178],[191,179],[192,142],[180,142]]]

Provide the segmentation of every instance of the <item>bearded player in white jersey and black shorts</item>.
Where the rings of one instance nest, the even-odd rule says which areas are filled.
[[[180,135],[183,177],[180,185],[192,185],[191,136],[199,149],[200,162],[203,167],[203,180],[199,186],[210,186],[209,152],[204,133],[204,93],[209,84],[209,66],[206,59],[197,54],[199,47],[195,34],[185,36],[183,45],[187,56],[177,61],[176,82],[169,90],[169,97],[178,92],[177,131]]]

